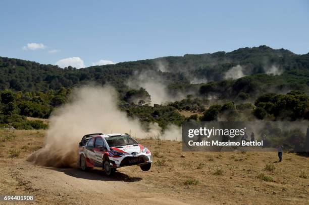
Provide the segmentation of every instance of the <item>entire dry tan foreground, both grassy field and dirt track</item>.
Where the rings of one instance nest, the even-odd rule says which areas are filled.
[[[33,204],[308,204],[309,159],[295,154],[182,152],[181,143],[141,140],[155,156],[107,177],[26,161],[45,131],[0,130],[0,191],[35,195]],[[182,156],[183,155],[183,156]]]

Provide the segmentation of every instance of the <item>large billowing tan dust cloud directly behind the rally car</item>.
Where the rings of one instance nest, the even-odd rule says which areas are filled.
[[[116,90],[110,86],[74,89],[70,101],[50,116],[44,147],[28,161],[41,166],[77,167],[78,143],[88,133],[129,133],[138,139],[181,140],[178,126],[169,125],[163,132],[155,123],[146,131],[138,119],[129,118],[119,110],[117,97]]]

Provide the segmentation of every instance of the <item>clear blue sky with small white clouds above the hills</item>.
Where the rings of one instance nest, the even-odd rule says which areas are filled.
[[[264,44],[309,52],[308,1],[2,0],[0,8],[0,56],[40,63],[90,66]]]

